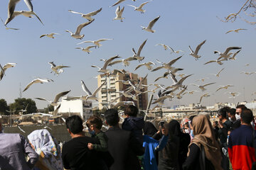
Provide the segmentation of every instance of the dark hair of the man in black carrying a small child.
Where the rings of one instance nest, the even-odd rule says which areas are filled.
[[[82,119],[78,115],[71,115],[65,120],[67,129],[73,134],[78,134],[82,132]]]

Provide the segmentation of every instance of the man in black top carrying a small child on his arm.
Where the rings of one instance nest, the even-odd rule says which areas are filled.
[[[62,149],[63,166],[65,169],[93,169],[100,170],[102,165],[98,164],[97,152],[89,150],[88,143],[99,144],[99,140],[86,137],[82,132],[82,119],[78,115],[72,115],[65,121],[66,127],[72,140],[65,142]]]

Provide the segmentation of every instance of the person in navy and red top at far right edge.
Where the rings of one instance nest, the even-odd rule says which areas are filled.
[[[253,120],[252,111],[242,109],[240,120],[240,127],[233,130],[228,138],[228,154],[234,170],[252,169],[252,162],[256,161],[256,133],[250,125]]]

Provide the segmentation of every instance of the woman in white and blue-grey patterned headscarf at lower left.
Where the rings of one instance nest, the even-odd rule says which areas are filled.
[[[63,170],[60,146],[48,130],[34,130],[28,140],[40,156],[33,170]]]

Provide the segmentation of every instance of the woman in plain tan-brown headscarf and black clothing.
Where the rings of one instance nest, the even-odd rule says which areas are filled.
[[[198,115],[193,118],[192,125],[195,137],[188,146],[188,158],[183,169],[222,170],[220,147],[215,140],[210,120],[206,115]]]

